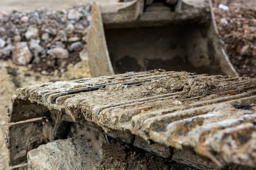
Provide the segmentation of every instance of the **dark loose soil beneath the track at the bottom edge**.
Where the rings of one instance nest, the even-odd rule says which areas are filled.
[[[195,170],[135,147],[103,144],[103,157],[90,170]]]

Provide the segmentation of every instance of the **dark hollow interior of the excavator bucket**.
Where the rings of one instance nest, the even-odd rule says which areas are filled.
[[[114,72],[189,71],[223,74],[214,58],[209,27],[197,24],[105,29]]]

